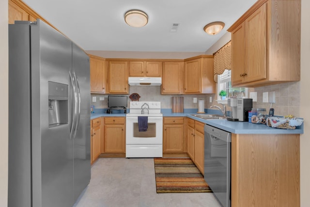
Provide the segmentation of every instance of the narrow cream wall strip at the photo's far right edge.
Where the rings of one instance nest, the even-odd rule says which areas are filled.
[[[300,114],[305,118],[300,137],[300,200],[301,207],[310,207],[310,0],[301,0],[301,80]]]

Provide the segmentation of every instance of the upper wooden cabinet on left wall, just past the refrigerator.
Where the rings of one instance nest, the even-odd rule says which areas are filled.
[[[104,58],[89,55],[91,73],[91,93],[106,93],[107,74],[106,61]]]

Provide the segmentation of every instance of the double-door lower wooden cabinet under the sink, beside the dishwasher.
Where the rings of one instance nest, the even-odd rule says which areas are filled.
[[[204,123],[187,119],[187,154],[204,174]]]

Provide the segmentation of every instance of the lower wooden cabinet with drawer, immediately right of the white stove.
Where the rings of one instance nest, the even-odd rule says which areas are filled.
[[[184,152],[184,125],[183,117],[164,117],[163,152]]]

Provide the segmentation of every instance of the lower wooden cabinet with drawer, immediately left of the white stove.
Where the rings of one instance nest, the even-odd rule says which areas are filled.
[[[125,117],[105,117],[105,153],[125,153]]]

